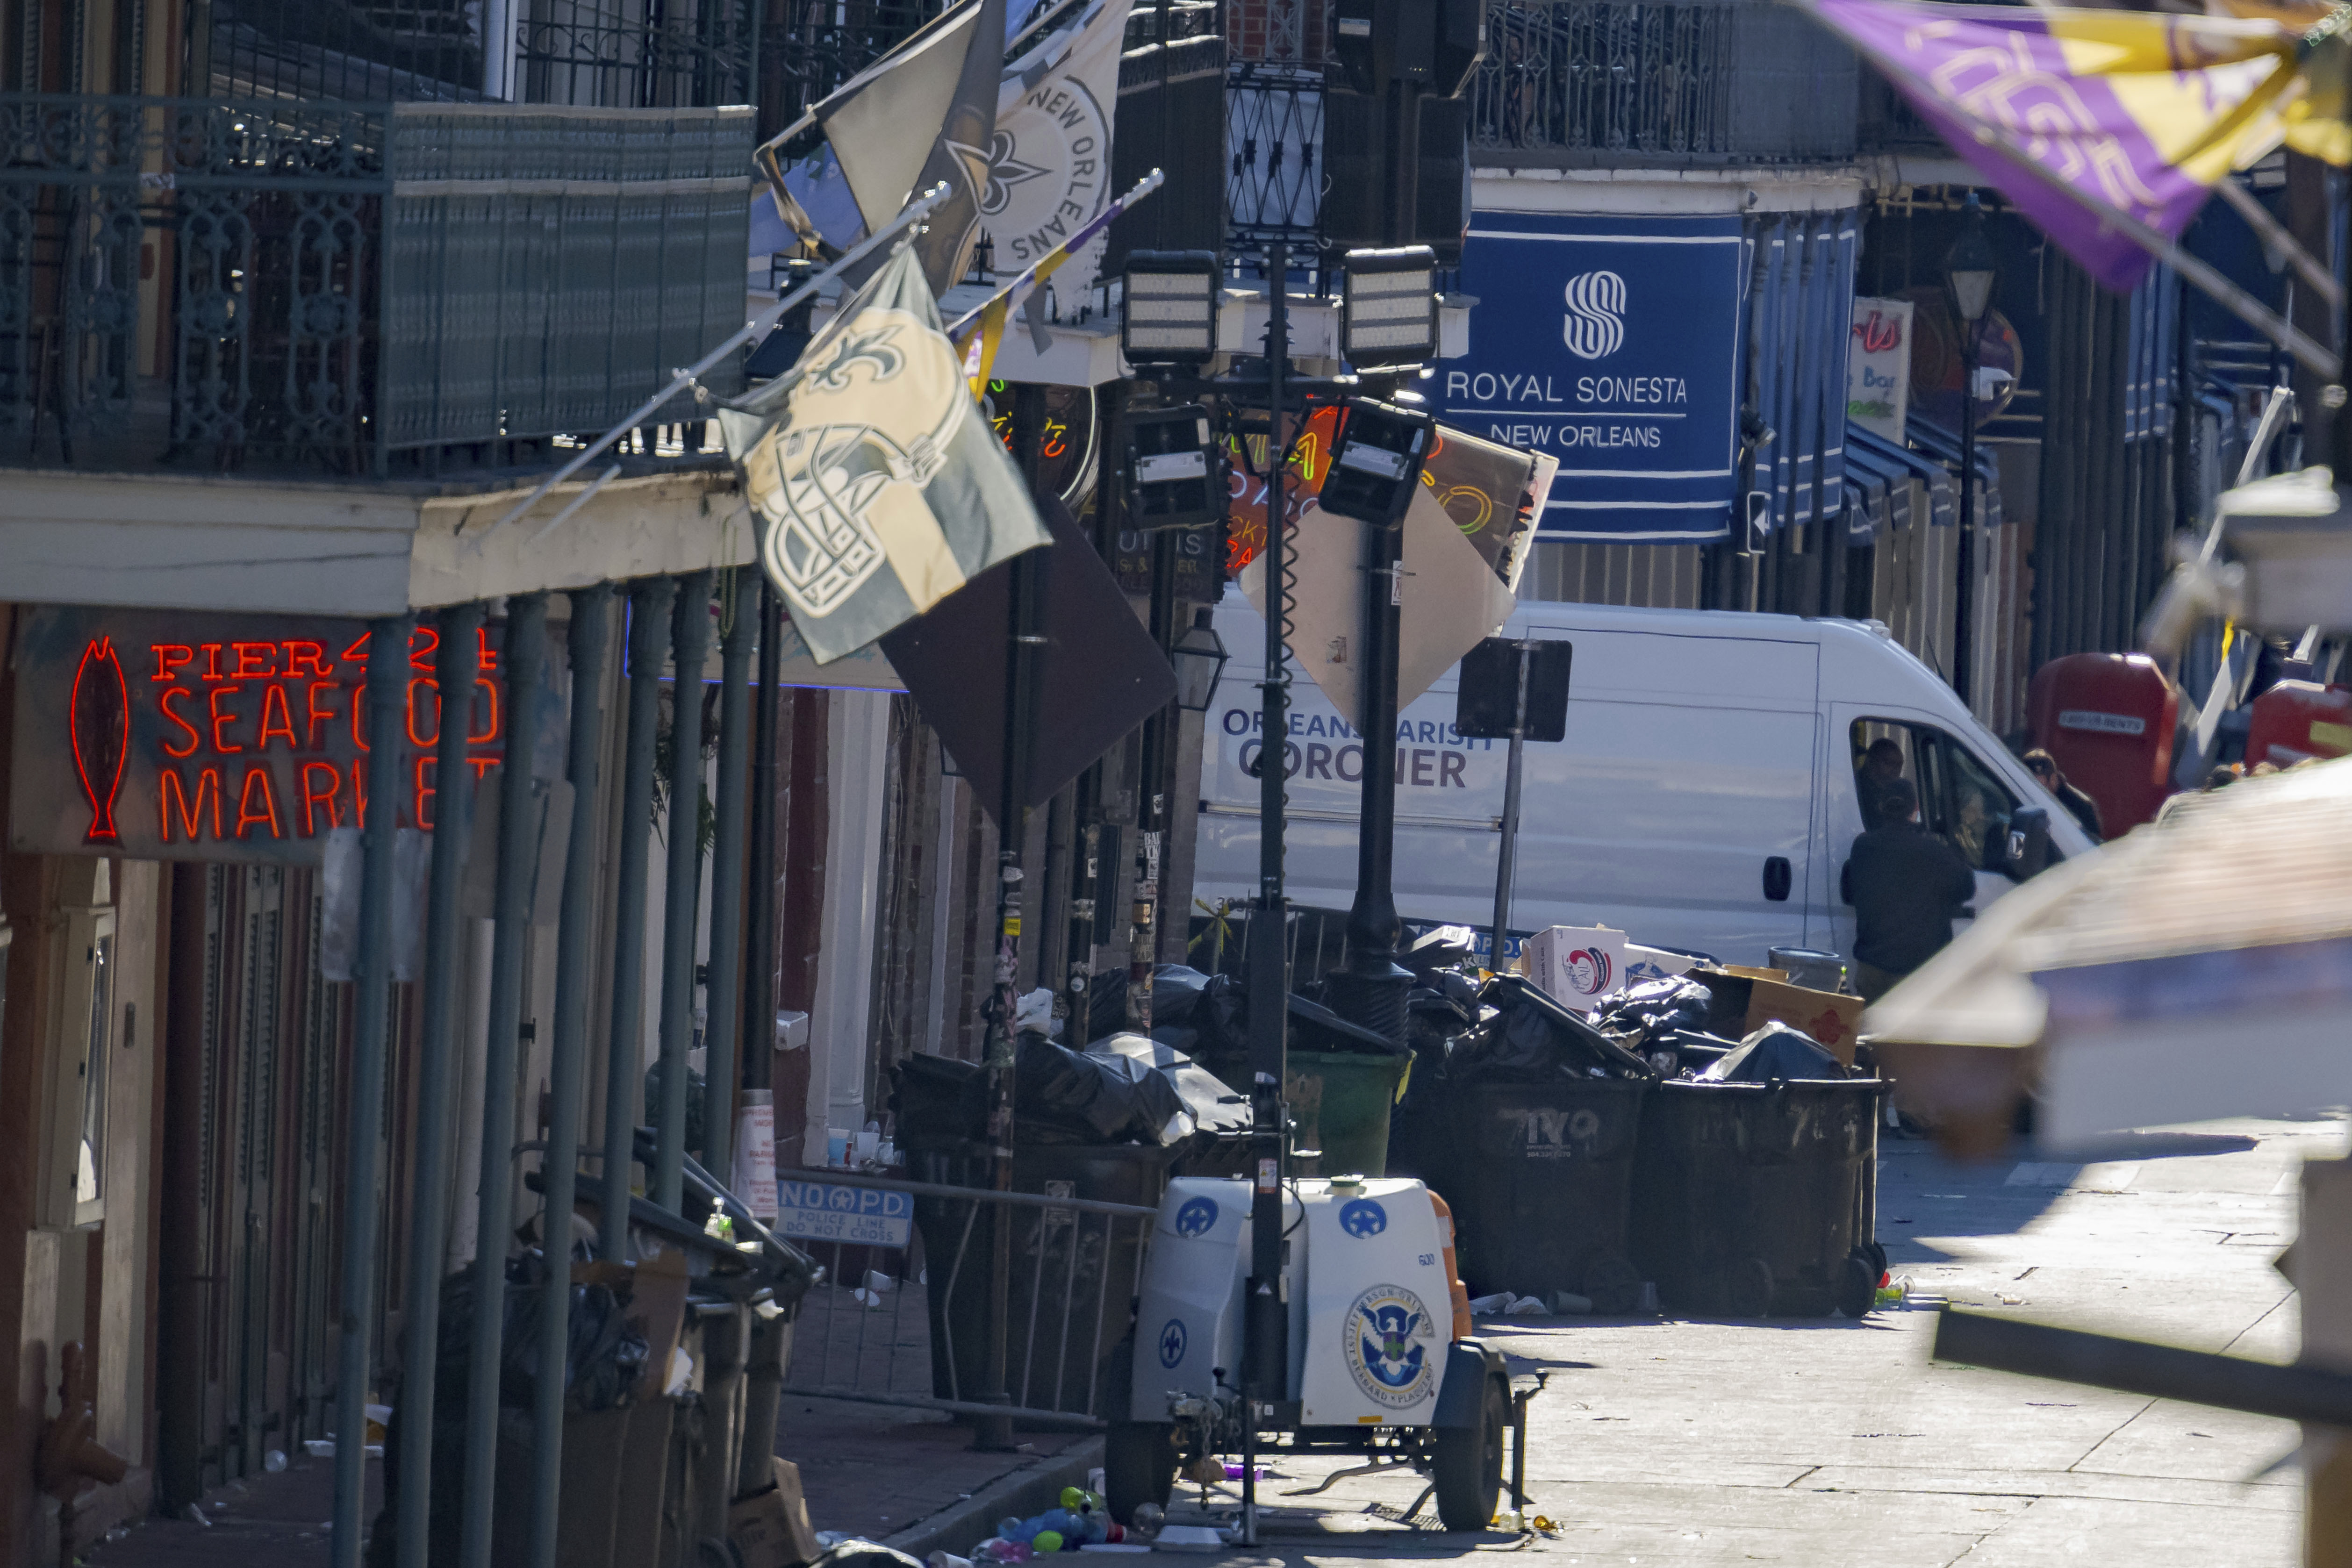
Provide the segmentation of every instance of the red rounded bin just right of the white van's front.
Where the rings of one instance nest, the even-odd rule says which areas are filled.
[[[2034,745],[2098,802],[2107,837],[2157,813],[2171,795],[2180,691],[2145,654],[2067,654],[2025,689]]]

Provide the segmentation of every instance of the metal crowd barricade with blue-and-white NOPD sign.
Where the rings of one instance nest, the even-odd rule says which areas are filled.
[[[1098,1427],[1157,1208],[854,1171],[779,1182],[779,1234],[826,1274],[800,1305],[786,1394]],[[1011,1227],[1009,1403],[988,1399],[993,1225]]]

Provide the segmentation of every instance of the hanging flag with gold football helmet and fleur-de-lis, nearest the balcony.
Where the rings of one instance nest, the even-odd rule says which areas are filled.
[[[790,376],[722,407],[720,433],[760,515],[760,562],[816,663],[1049,538],[964,386],[913,247]]]

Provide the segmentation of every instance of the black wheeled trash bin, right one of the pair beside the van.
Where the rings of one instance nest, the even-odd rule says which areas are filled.
[[[1642,1110],[1632,1199],[1632,1258],[1658,1305],[1867,1312],[1884,1093],[1884,1079],[1658,1084]]]

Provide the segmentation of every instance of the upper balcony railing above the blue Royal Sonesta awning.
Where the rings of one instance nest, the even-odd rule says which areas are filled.
[[[1844,160],[1856,56],[1773,0],[1501,0],[1470,85],[1482,165]]]

